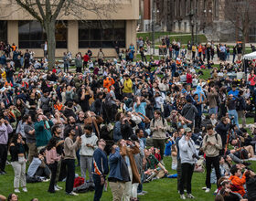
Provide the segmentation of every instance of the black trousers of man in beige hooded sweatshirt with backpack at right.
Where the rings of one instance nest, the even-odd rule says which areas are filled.
[[[213,167],[215,168],[215,173],[216,173],[217,181],[219,181],[219,178],[220,178],[219,156],[215,156],[215,157],[208,157],[208,156],[206,156],[206,167],[207,167],[206,185],[207,185],[207,188],[211,187],[211,184],[210,184],[211,165],[213,165]]]

